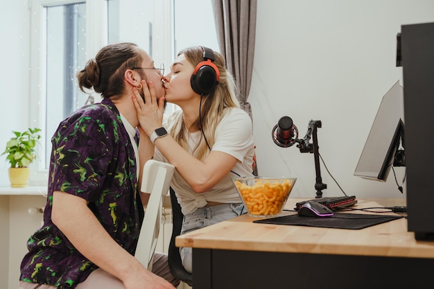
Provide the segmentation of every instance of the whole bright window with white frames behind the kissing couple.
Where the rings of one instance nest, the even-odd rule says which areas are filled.
[[[155,63],[164,62],[166,67],[186,46],[205,45],[218,51],[211,1],[30,1],[30,91],[31,105],[35,107],[31,111],[31,126],[42,128],[44,148],[38,152],[38,173],[32,176],[32,184],[46,184],[51,137],[60,121],[89,100],[78,89],[76,73],[102,46],[134,42]],[[101,100],[93,97],[95,102]],[[175,109],[168,105],[166,112]]]

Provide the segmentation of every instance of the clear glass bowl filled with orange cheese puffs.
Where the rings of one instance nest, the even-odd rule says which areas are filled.
[[[297,178],[232,177],[249,216],[278,216],[284,209]]]

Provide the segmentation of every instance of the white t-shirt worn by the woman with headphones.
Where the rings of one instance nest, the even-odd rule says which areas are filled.
[[[178,113],[182,112],[174,112],[174,114]],[[171,129],[172,123],[173,118],[171,117],[165,124],[167,130]],[[202,132],[198,131],[190,133],[189,137],[186,138],[190,150],[195,148],[201,135]],[[208,201],[222,203],[242,202],[236,192],[231,177],[252,176],[254,139],[252,120],[250,119],[250,116],[241,109],[230,109],[217,125],[214,139],[215,143],[211,148],[212,150],[225,152],[238,159],[238,161],[232,168],[232,172],[229,172],[229,174],[223,177],[214,188],[200,194],[195,193],[189,184],[187,184],[181,175],[175,170],[171,186],[176,192],[177,200],[180,202],[182,213],[184,213],[184,215],[193,213],[193,211],[196,211],[198,208],[205,207]],[[163,157],[162,153],[159,152],[157,148],[155,148],[154,159],[167,162],[167,159]]]

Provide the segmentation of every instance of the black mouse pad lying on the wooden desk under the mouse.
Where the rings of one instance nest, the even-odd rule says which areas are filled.
[[[381,216],[361,213],[334,213],[330,217],[305,217],[298,215],[281,216],[254,220],[263,224],[323,227],[335,229],[363,229],[374,225],[403,218],[402,216]]]

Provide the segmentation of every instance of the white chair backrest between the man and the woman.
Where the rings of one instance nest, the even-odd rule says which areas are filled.
[[[170,188],[175,166],[150,159],[144,165],[141,190],[150,193],[144,222],[137,243],[135,257],[149,270],[152,269],[153,254],[158,241],[159,226],[162,222],[164,196]]]

